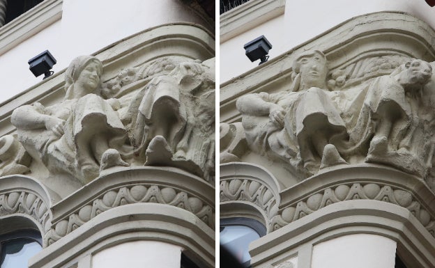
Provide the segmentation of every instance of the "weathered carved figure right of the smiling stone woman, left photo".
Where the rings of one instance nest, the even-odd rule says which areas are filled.
[[[184,61],[153,77],[133,97],[130,139],[147,165],[177,166],[208,177],[214,168],[214,70],[214,59]]]

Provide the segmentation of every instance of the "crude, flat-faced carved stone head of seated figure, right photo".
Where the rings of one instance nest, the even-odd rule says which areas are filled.
[[[300,90],[312,87],[326,88],[328,61],[323,52],[303,52],[293,62],[293,71],[300,74]]]

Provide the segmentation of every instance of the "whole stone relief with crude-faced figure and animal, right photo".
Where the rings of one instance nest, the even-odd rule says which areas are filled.
[[[238,98],[247,145],[305,178],[328,166],[367,162],[418,175],[434,190],[433,66],[390,58],[362,59],[328,73],[322,52],[296,56],[287,91]],[[227,138],[221,133],[221,143],[234,142]],[[222,153],[227,159],[228,149]]]

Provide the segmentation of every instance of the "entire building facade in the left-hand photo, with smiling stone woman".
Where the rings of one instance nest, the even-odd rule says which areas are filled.
[[[214,28],[214,1],[178,0],[45,0],[0,28],[2,267],[33,242],[24,267],[215,266]]]

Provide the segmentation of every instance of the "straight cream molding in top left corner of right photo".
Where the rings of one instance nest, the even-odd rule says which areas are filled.
[[[220,15],[220,42],[284,14],[285,0],[251,0]]]

